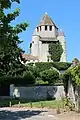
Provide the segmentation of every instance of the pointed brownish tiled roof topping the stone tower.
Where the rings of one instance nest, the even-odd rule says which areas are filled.
[[[39,23],[38,26],[42,26],[42,25],[52,25],[52,26],[55,26],[57,28],[57,26],[55,25],[55,23],[48,16],[47,12],[44,14],[44,16],[42,17],[42,19],[40,20],[40,23]]]

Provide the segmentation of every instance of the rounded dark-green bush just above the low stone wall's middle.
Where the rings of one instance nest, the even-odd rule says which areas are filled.
[[[59,73],[55,70],[45,70],[45,71],[42,71],[41,73],[41,78],[42,80],[45,82],[45,81],[48,81],[48,83],[55,83],[56,81],[59,80]]]

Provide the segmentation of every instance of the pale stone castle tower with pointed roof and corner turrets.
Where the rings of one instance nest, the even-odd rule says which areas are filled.
[[[31,55],[37,56],[39,62],[51,61],[49,58],[49,43],[60,41],[63,47],[63,54],[60,62],[66,62],[66,42],[62,31],[58,33],[58,27],[48,16],[47,13],[40,20],[39,25],[35,28],[31,41]]]

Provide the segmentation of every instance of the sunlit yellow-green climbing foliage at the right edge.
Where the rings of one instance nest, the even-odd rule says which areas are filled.
[[[77,61],[77,59],[75,60]],[[65,88],[66,95],[68,93],[68,81],[69,80],[72,81],[74,89],[75,89],[75,86],[80,85],[80,63],[72,65],[72,67],[67,69],[65,73],[63,74],[63,82],[64,82],[64,88]]]

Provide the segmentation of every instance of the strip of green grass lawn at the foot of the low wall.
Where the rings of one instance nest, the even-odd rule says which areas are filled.
[[[9,106],[10,101],[13,106],[19,106],[19,100],[0,100],[0,106]],[[56,100],[50,100],[50,101],[38,101],[38,102],[28,102],[26,100],[20,100],[20,106],[24,107],[47,107],[47,108],[63,108],[64,103],[63,101],[56,101]]]

